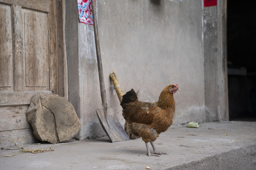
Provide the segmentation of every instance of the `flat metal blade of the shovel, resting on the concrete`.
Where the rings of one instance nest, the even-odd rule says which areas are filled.
[[[111,108],[108,108],[107,110],[96,109],[96,112],[101,122],[101,126],[109,136],[111,142],[129,140],[129,136],[118,121],[114,114],[114,110]]]

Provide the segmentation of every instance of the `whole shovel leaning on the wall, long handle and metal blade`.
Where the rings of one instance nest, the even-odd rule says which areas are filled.
[[[114,110],[108,108],[107,105],[107,95],[104,84],[104,76],[101,62],[101,50],[100,50],[100,42],[99,42],[99,34],[98,34],[98,25],[97,25],[97,16],[96,16],[96,8],[95,8],[95,0],[91,0],[91,8],[92,8],[92,18],[93,18],[93,27],[94,27],[94,37],[95,37],[95,45],[96,45],[96,55],[98,62],[98,70],[99,70],[99,79],[100,79],[100,88],[101,88],[101,101],[102,108],[96,109],[98,118],[101,122],[101,126],[109,136],[111,142],[118,142],[123,140],[128,140],[129,137],[126,134],[125,130],[119,123],[116,115],[114,114]]]

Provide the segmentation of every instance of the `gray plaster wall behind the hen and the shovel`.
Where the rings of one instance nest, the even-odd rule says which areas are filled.
[[[97,0],[96,6],[108,106],[120,123],[111,69],[124,93],[147,89],[155,102],[166,85],[178,84],[174,125],[205,121],[202,1]],[[79,22],[71,0],[66,0],[66,49],[69,101],[82,123],[77,137],[103,136],[95,111],[101,95],[93,26]]]

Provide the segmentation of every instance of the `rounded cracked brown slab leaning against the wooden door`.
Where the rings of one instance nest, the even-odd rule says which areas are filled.
[[[65,142],[81,128],[73,105],[56,94],[36,93],[26,112],[34,136],[50,143]]]

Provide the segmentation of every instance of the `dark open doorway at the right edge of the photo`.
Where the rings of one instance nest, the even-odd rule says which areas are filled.
[[[256,121],[256,10],[228,0],[229,120]]]

